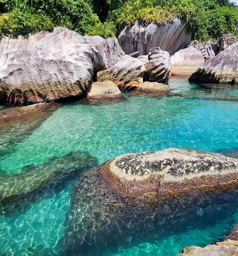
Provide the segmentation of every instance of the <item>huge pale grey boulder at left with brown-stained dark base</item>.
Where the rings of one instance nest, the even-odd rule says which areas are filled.
[[[0,42],[0,102],[35,104],[79,96],[93,74],[114,65],[125,53],[116,39],[82,37],[56,27],[28,39]]]

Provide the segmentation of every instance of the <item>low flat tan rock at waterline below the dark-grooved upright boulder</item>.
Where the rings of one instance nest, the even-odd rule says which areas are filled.
[[[132,94],[137,93],[152,93],[152,94],[165,94],[170,91],[170,87],[167,84],[160,84],[157,82],[144,82],[138,84],[133,90]]]

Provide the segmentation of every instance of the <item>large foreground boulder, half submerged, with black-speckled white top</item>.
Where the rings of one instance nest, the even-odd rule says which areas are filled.
[[[237,188],[238,162],[231,157],[182,149],[116,157],[77,181],[65,243],[69,251],[96,255],[155,234],[162,239],[174,225],[195,221],[202,204],[231,200]]]

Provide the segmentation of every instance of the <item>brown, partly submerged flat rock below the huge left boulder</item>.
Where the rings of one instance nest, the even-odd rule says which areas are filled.
[[[9,143],[22,141],[59,107],[58,103],[39,103],[0,111],[0,154],[10,150]]]

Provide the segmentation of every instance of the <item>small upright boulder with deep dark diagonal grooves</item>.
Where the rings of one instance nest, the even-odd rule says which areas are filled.
[[[150,82],[163,83],[167,80],[171,68],[169,52],[162,51],[159,47],[153,48],[148,53],[145,78]]]

